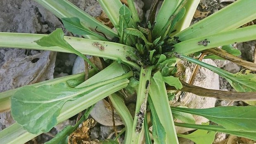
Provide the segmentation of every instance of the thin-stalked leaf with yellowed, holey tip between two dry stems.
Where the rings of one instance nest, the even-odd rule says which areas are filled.
[[[179,55],[180,58],[185,58],[187,61],[192,63],[196,63],[202,67],[208,68],[209,70],[219,74],[228,80],[230,85],[235,88],[236,91],[239,92],[254,92],[256,91],[256,74],[253,74],[250,70],[241,70],[236,74],[232,74],[225,70],[222,70],[213,65],[209,65],[207,63],[201,62],[199,60],[195,60],[185,55]],[[179,57],[178,56],[178,57]]]

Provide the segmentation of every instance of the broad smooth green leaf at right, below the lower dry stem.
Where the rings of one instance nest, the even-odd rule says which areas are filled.
[[[256,107],[213,107],[209,109],[187,109],[181,107],[171,107],[176,111],[186,112],[189,114],[195,114],[204,116],[205,118],[222,125],[226,129],[230,130],[244,130],[255,131],[256,130]]]

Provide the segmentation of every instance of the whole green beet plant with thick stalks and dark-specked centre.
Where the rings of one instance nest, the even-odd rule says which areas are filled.
[[[256,64],[237,57],[232,45],[256,39],[256,26],[240,26],[256,19],[255,0],[237,0],[190,26],[200,0],[153,0],[147,22],[141,23],[133,0],[98,0],[115,30],[84,13],[67,0],[36,0],[62,20],[79,37],[64,36],[62,29],[49,35],[0,33],[0,46],[75,53],[92,69],[0,93],[0,111],[11,110],[16,121],[0,132],[3,144],[24,143],[50,131],[58,123],[87,109],[75,126],[67,126],[47,144],[67,143],[67,137],[88,117],[96,102],[109,97],[125,125],[125,144],[178,144],[178,137],[197,144],[211,144],[216,132],[256,140],[256,107],[171,107],[177,91],[223,100],[256,100]],[[237,54],[238,53],[238,54]],[[108,59],[104,70],[85,55]],[[200,60],[226,59],[245,69],[232,74]],[[177,76],[177,63],[186,60],[228,80],[237,92],[201,88]],[[137,93],[134,118],[121,90]],[[168,93],[167,93],[168,90]],[[204,116],[216,125],[195,124],[193,115]],[[173,121],[180,119],[183,123]],[[177,134],[175,126],[198,129]],[[152,127],[152,131],[149,130]],[[150,138],[152,135],[152,138]],[[116,142],[116,141],[113,141]]]

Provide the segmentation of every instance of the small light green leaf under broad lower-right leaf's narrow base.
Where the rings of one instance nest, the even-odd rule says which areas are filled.
[[[179,107],[181,107],[181,106],[179,106]],[[176,111],[176,110],[173,110],[173,109],[172,109],[171,112],[172,112],[174,118],[182,121],[183,123],[191,123],[191,124],[196,123],[192,114]]]

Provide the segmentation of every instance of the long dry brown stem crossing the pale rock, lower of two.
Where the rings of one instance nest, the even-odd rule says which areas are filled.
[[[232,91],[220,91],[220,90],[212,90],[207,88],[202,88],[199,86],[193,86],[184,81],[181,81],[183,84],[183,88],[180,91],[185,91],[189,93],[194,93],[195,95],[199,95],[202,97],[212,97],[218,98],[221,100],[256,100],[256,92],[232,92]],[[166,90],[176,90],[175,87],[167,86]],[[231,102],[231,103],[232,103]]]

